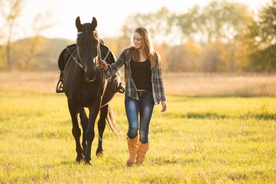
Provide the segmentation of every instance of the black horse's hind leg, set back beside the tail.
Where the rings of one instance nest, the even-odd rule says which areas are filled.
[[[104,132],[104,129],[105,129],[105,118],[106,118],[107,113],[108,113],[108,107],[109,107],[109,104],[101,107],[101,109],[100,109],[100,118],[99,118],[99,121],[98,121],[99,143],[98,143],[98,148],[97,148],[97,151],[96,151],[97,156],[101,156],[103,154],[103,147],[102,147],[103,132]]]

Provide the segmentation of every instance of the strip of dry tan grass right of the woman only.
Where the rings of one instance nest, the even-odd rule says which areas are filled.
[[[275,74],[164,73],[170,94],[185,96],[275,96]]]

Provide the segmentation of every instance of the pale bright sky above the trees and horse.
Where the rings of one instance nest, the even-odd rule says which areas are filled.
[[[98,20],[98,31],[101,37],[120,34],[121,26],[128,15],[136,13],[156,12],[162,7],[176,13],[185,13],[195,4],[208,5],[211,0],[25,0],[20,18],[21,30],[15,31],[15,37],[32,36],[30,27],[33,18],[39,12],[50,10],[52,15],[48,22],[55,25],[43,31],[42,35],[49,38],[76,39],[75,20],[80,16],[81,22],[91,22],[93,16]],[[231,0],[228,0],[231,1]],[[259,7],[270,0],[232,0],[247,5],[250,10],[257,11]],[[0,20],[0,24],[1,24]],[[24,22],[24,24],[22,24]],[[146,25],[141,25],[145,26]],[[21,35],[20,35],[21,33]],[[19,36],[20,35],[20,36]]]

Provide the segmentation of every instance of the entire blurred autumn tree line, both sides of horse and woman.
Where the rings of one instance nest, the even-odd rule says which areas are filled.
[[[261,7],[258,13],[229,1],[195,5],[178,14],[163,7],[128,16],[121,35],[102,39],[119,56],[138,26],[150,30],[168,72],[275,71],[276,0]],[[45,28],[48,27],[40,30]],[[56,70],[59,53],[72,41],[47,39],[39,33],[0,45],[0,69]]]

